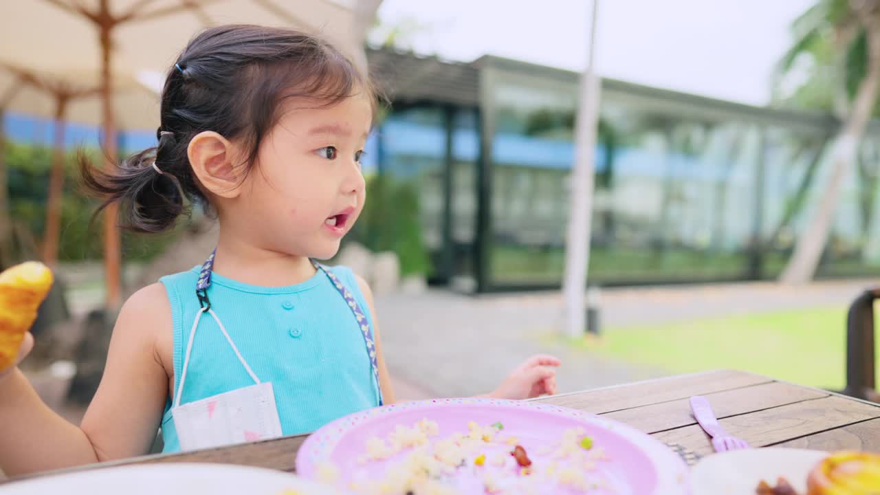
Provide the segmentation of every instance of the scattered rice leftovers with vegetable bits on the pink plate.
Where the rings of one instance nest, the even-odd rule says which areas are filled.
[[[441,436],[436,422],[422,419],[413,426],[395,425],[384,436],[365,441],[366,453],[359,464],[382,463],[383,475],[370,477],[368,470],[349,480],[348,490],[363,494],[443,495],[445,493],[590,493],[605,487],[596,463],[605,454],[594,447],[582,427],[562,432],[560,440],[534,445],[515,443],[516,437],[501,435],[504,426],[466,423],[466,432]],[[543,449],[539,447],[544,447]],[[321,466],[324,474],[339,474],[333,466]],[[333,476],[321,477],[333,482]]]

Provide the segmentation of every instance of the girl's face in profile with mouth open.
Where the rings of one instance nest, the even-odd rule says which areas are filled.
[[[262,248],[331,258],[363,210],[370,104],[362,96],[334,107],[289,104],[241,184],[240,211],[248,216],[239,225]]]

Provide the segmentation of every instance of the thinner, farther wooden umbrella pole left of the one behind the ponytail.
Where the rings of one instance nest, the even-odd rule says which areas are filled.
[[[58,242],[61,233],[61,203],[64,188],[64,115],[70,97],[55,93],[55,129],[52,148],[52,168],[49,172],[49,194],[46,203],[46,234],[43,237],[43,262],[54,267],[58,261]]]

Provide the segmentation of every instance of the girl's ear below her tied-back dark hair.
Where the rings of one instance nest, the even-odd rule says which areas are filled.
[[[235,145],[211,130],[195,135],[187,147],[189,164],[202,187],[225,198],[234,198],[240,193],[234,164],[237,156]]]

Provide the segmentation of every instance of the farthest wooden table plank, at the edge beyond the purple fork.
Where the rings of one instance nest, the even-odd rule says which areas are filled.
[[[618,387],[599,388],[576,394],[555,395],[540,401],[585,410],[594,414],[603,414],[615,410],[686,399],[691,395],[707,395],[773,381],[773,379],[752,373],[719,370],[642,381]]]

